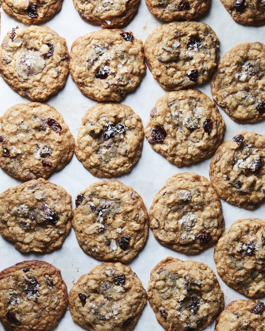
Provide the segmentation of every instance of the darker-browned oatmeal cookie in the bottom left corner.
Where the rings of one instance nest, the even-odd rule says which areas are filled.
[[[49,331],[64,315],[67,287],[45,261],[23,261],[0,272],[0,319],[9,331]]]

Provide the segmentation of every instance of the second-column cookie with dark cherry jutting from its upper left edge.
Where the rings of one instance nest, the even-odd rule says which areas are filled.
[[[129,262],[147,239],[142,198],[118,180],[88,186],[77,196],[73,215],[79,246],[97,260]]]

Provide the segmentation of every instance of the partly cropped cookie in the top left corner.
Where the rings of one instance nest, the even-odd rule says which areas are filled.
[[[24,24],[38,24],[49,20],[62,8],[62,0],[2,0],[6,14]]]

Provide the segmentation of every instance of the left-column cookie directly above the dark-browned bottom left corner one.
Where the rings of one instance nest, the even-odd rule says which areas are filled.
[[[21,252],[52,252],[70,231],[71,196],[43,178],[0,194],[0,233]]]

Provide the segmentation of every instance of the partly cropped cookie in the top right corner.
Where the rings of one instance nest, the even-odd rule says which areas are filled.
[[[232,19],[243,25],[265,24],[265,3],[263,0],[221,0]]]

